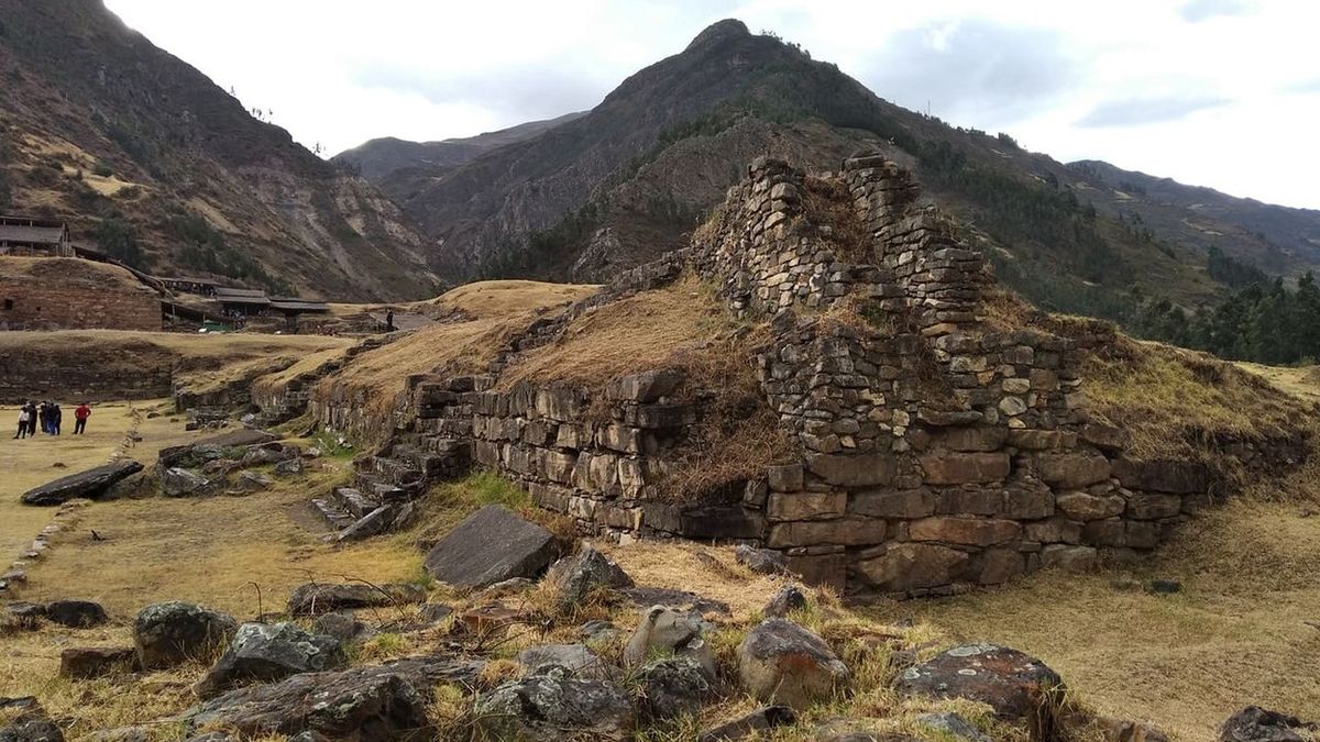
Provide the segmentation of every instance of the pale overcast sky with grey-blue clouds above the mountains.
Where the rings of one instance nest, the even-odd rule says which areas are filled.
[[[1320,3],[1308,0],[106,0],[326,154],[595,106],[737,17],[883,98],[1106,160],[1320,209]]]

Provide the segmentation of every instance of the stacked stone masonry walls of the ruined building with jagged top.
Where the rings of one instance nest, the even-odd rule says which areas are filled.
[[[605,296],[688,268],[734,310],[772,317],[754,363],[796,461],[733,496],[663,499],[656,485],[702,413],[672,399],[680,372],[616,379],[605,400],[500,387],[500,370],[553,339],[572,310],[529,329],[488,375],[412,379],[409,434],[445,473],[498,470],[583,531],[756,543],[854,597],[949,594],[1129,557],[1208,502],[1206,467],[1131,459],[1123,430],[1089,421],[1080,353],[1105,330],[1059,337],[979,320],[983,256],[917,206],[908,173],[858,157],[821,178],[850,199],[861,250],[807,218],[803,173],[758,160],[748,176],[690,248]],[[836,321],[840,301],[867,321]]]

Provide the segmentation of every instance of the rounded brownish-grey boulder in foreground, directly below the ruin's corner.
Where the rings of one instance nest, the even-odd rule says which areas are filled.
[[[824,639],[783,618],[763,621],[738,647],[743,689],[793,709],[828,697],[847,684],[849,675]]]

